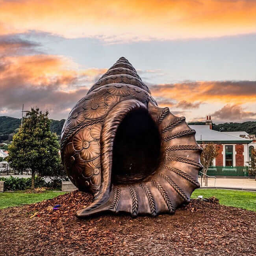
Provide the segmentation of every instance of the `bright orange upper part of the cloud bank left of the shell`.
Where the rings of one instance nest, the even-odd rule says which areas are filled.
[[[67,58],[54,55],[33,55],[2,57],[0,59],[0,80],[20,80],[26,86],[50,86],[58,84],[59,89],[83,82],[91,83],[106,69],[74,69],[75,63]],[[6,84],[6,83],[5,83]]]

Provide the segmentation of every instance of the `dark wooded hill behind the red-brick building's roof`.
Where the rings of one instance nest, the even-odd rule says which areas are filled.
[[[202,125],[205,122],[189,122],[190,125]],[[241,132],[256,134],[256,121],[225,122],[224,124],[212,124],[212,129],[218,132]]]

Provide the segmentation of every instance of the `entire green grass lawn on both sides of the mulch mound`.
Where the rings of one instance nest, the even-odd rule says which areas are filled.
[[[24,191],[4,192],[0,193],[0,209],[21,204],[32,204],[63,194],[65,192],[46,191],[36,194],[24,193]],[[198,195],[202,195],[203,198],[217,197],[219,198],[220,204],[256,211],[256,192],[225,189],[196,189],[192,193],[191,198],[197,198]]]

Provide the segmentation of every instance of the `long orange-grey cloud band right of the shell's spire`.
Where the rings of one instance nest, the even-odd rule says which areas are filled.
[[[187,102],[236,102],[256,101],[256,81],[200,81],[164,85],[150,88],[152,95]]]

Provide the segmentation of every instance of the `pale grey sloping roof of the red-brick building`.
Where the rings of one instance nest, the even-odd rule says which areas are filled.
[[[190,125],[191,129],[196,131],[196,141],[219,142],[219,143],[250,143],[252,140],[230,135],[226,132],[217,132],[210,129],[210,125]]]

